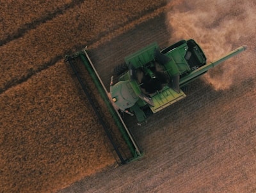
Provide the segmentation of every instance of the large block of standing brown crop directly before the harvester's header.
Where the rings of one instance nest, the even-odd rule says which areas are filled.
[[[63,62],[0,97],[3,192],[54,192],[115,162]]]

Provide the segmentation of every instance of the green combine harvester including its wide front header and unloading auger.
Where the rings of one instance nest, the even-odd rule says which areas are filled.
[[[142,154],[131,131],[120,116],[121,112],[131,116],[135,115],[138,124],[145,122],[149,115],[154,115],[186,97],[182,87],[244,50],[246,46],[240,46],[220,59],[207,63],[204,52],[193,39],[181,40],[164,50],[160,50],[157,43],[152,43],[125,57],[125,64],[116,66],[114,75],[111,77],[109,91],[102,83],[86,49],[67,55],[66,61],[77,75],[85,93],[88,91],[86,84],[77,73],[76,59],[83,62],[92,76],[93,82],[131,151],[131,157],[124,159],[109,132],[111,128],[104,129],[120,159],[119,162],[125,164],[138,159]],[[86,96],[90,97],[88,94]],[[96,108],[95,112],[97,114]],[[104,122],[101,124],[104,125]]]

